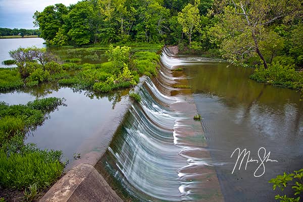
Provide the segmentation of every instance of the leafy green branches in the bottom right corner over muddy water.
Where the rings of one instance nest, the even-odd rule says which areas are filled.
[[[289,197],[287,195],[277,194],[275,196],[276,200],[281,202],[298,202],[300,201],[300,194],[303,193],[303,169],[294,171],[293,173],[283,173],[283,175],[278,175],[276,178],[271,179],[269,182],[273,183],[273,189],[277,187],[284,190],[285,187],[291,186],[294,191],[294,197]],[[298,196],[297,196],[298,195]]]

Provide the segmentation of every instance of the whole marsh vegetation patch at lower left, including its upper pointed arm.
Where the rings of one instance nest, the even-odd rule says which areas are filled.
[[[61,151],[42,150],[33,143],[24,143],[27,132],[43,124],[48,114],[62,105],[64,99],[57,97],[37,99],[26,105],[0,103],[2,188],[24,190],[25,199],[32,200],[62,175]]]

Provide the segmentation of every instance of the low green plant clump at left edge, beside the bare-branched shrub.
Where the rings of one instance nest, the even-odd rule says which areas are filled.
[[[0,68],[0,91],[14,90],[23,86],[16,68]]]

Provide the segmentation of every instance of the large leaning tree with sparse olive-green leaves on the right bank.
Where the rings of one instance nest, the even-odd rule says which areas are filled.
[[[260,44],[270,42],[270,38],[266,37],[267,26],[278,19],[289,17],[290,11],[296,10],[295,7],[300,7],[299,1],[218,1],[214,8],[221,13],[221,22],[211,32],[222,41],[223,56],[243,60],[252,53],[257,53],[267,69]]]

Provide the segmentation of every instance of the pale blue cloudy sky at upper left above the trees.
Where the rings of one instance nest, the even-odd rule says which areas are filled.
[[[34,29],[33,14],[46,6],[62,3],[66,6],[79,0],[0,0],[0,27]]]

